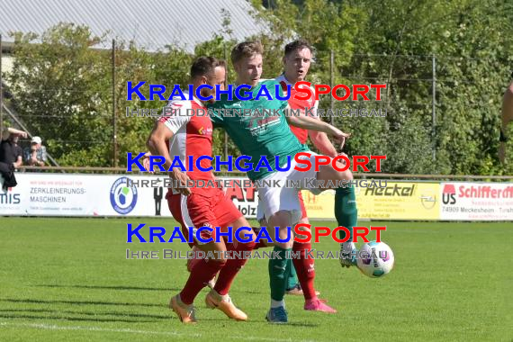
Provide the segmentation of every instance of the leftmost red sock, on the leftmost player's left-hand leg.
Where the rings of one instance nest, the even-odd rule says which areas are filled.
[[[185,283],[184,290],[180,293],[180,299],[185,304],[192,304],[194,302],[194,298],[202,291],[202,288],[205,287],[209,280],[216,275],[219,270],[224,266],[225,263],[220,263],[217,260],[209,260],[202,258],[198,260],[193,266],[191,270],[191,274],[189,275],[189,279],[187,279],[187,283]]]

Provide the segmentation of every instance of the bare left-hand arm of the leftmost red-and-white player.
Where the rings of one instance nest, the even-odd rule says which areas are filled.
[[[157,121],[155,123],[155,127],[149,134],[148,141],[146,145],[149,148],[149,151],[154,156],[162,156],[165,158],[164,167],[168,170],[173,164],[171,156],[169,155],[169,150],[167,149],[166,140],[173,138],[174,132],[170,130],[166,123],[162,121]],[[171,172],[168,174],[171,178],[176,179],[180,182],[180,184],[187,184],[187,180],[189,176],[185,174],[183,171],[174,167]],[[182,187],[176,189],[180,193],[184,193],[185,195],[191,194],[191,190],[187,187]]]

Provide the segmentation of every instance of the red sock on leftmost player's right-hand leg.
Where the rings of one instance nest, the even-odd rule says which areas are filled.
[[[244,251],[251,251],[254,248],[255,242],[253,241],[247,243],[238,242],[235,246],[234,244],[227,245],[227,249],[232,251],[230,253],[230,257],[232,258],[228,259],[226,265],[220,270],[219,277],[217,278],[214,286],[214,290],[217,291],[217,293],[220,295],[229,293],[229,288],[233,279],[235,279],[240,268],[242,268],[242,266],[247,262],[247,258],[244,257]],[[238,254],[240,254],[240,257],[234,257],[233,251],[239,252]]]

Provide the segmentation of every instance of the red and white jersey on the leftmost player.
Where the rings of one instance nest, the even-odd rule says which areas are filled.
[[[189,94],[184,93],[185,97]],[[201,156],[212,154],[212,123],[207,115],[207,110],[199,102],[172,100],[167,107],[175,110],[168,112],[158,121],[164,123],[173,132],[169,139],[169,156],[173,160],[179,156],[186,170],[189,170],[189,156],[193,158],[193,171],[186,171],[191,179],[211,180],[211,171],[201,171],[195,166],[196,160]],[[197,111],[200,110],[200,111]],[[203,168],[211,167],[211,161],[202,159],[200,165]]]

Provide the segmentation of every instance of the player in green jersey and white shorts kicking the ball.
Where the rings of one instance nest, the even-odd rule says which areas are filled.
[[[253,169],[247,172],[248,177],[255,180],[268,180],[277,182],[281,186],[259,186],[258,195],[262,200],[263,210],[271,236],[279,236],[281,239],[287,239],[289,227],[293,227],[301,220],[302,211],[298,199],[300,188],[285,186],[286,181],[300,181],[303,189],[308,189],[312,193],[318,194],[323,189],[311,185],[307,182],[309,179],[317,179],[328,183],[339,181],[349,181],[353,175],[349,170],[338,171],[331,164],[320,166],[320,171],[311,170],[299,171],[295,169],[297,163],[294,156],[300,152],[309,152],[310,156],[302,156],[302,159],[310,159],[314,163],[315,153],[311,152],[306,145],[302,145],[293,135],[289,128],[289,123],[306,130],[318,130],[332,136],[336,141],[341,142],[349,135],[329,125],[329,123],[315,120],[306,116],[285,116],[269,115],[262,112],[266,110],[283,110],[287,107],[286,101],[276,99],[275,85],[278,82],[273,80],[260,81],[262,75],[262,55],[263,48],[258,42],[245,41],[238,44],[231,52],[231,61],[237,72],[236,85],[249,85],[251,89],[247,93],[252,94],[249,101],[238,100],[236,96],[232,101],[228,100],[228,95],[223,94],[220,101],[213,103],[211,109],[214,114],[211,120],[214,126],[221,127],[229,133],[229,136],[240,151],[249,157],[250,162],[257,165],[260,157],[265,156],[268,161],[274,161],[279,157],[281,167],[287,163],[287,157],[290,157],[290,168],[287,171],[276,169],[275,163],[271,162],[271,170],[266,167]],[[266,97],[256,99],[262,85],[273,94],[273,99]],[[278,87],[278,89],[280,89]],[[248,110],[253,115],[226,115],[227,110]],[[287,122],[288,121],[288,122]],[[291,157],[292,156],[292,157]],[[275,229],[275,231],[273,230]],[[287,312],[284,308],[284,293],[287,285],[287,262],[290,258],[290,252],[293,247],[293,238],[286,242],[274,242],[275,255],[281,258],[269,260],[269,276],[271,285],[271,309],[267,312],[266,320],[272,323],[286,323],[288,321]]]

